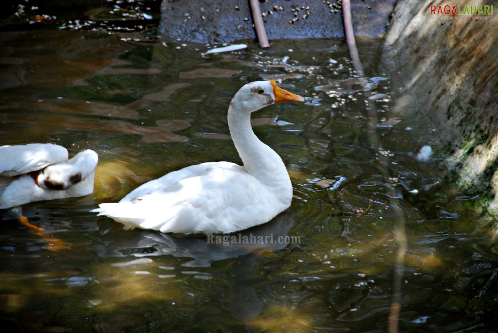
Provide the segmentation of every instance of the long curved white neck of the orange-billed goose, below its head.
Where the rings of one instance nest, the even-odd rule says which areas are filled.
[[[228,126],[235,148],[246,171],[259,181],[289,182],[287,169],[280,156],[259,141],[250,124],[250,112],[239,109],[237,103],[230,103]]]

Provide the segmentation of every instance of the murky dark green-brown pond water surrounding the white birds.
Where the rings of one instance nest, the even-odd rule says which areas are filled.
[[[471,210],[475,198],[448,182],[430,124],[403,102],[381,62],[381,41],[359,43],[373,78],[359,89],[363,83],[348,80],[354,73],[341,40],[272,41],[270,49],[250,44],[204,56],[204,45],[121,38],[0,35],[1,144],[52,142],[70,156],[91,148],[100,158],[93,195],[23,207],[47,235],[3,216],[2,325],[387,332],[398,323],[400,332],[493,332],[496,250]],[[262,78],[307,97],[253,115],[255,133],[291,175],[288,211],[212,242],[125,231],[89,212],[180,167],[238,163],[228,104],[244,83]],[[315,89],[331,82],[336,93]],[[376,93],[386,96],[369,99]],[[424,145],[435,153],[420,162]],[[251,241],[265,236],[273,242]],[[69,249],[47,246],[54,242]]]

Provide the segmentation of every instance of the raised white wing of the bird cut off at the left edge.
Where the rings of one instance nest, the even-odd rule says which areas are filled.
[[[33,143],[0,147],[0,175],[15,176],[67,161],[67,149],[53,144]]]

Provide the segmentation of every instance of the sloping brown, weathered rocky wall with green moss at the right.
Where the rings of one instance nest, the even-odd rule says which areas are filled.
[[[491,216],[498,215],[497,20],[495,0],[403,0],[385,39],[405,91],[446,144],[456,190],[480,195],[476,208]]]

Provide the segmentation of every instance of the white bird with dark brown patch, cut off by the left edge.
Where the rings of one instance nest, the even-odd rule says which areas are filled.
[[[98,156],[93,150],[68,161],[53,144],[0,147],[0,209],[28,202],[79,197],[93,192]]]

